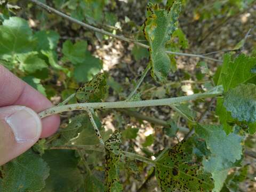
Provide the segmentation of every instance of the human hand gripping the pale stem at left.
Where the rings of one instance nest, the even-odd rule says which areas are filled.
[[[0,165],[58,129],[58,115],[42,121],[37,115],[51,106],[52,103],[41,93],[0,64]]]

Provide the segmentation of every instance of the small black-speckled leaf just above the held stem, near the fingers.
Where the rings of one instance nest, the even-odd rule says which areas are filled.
[[[76,91],[78,102],[101,102],[107,93],[107,76],[104,73],[97,74],[91,81]]]

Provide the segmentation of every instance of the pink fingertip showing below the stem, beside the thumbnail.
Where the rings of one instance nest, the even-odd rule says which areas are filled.
[[[60,126],[60,116],[51,115],[42,119],[42,133],[40,138],[50,137],[54,134]]]

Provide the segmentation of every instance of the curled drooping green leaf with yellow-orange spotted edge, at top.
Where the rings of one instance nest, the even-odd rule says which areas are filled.
[[[165,45],[177,29],[181,3],[175,1],[172,7],[167,7],[166,10],[159,9],[157,4],[149,4],[147,9],[150,12],[143,31],[150,47],[151,75],[164,82],[171,70],[171,60],[165,52]]]

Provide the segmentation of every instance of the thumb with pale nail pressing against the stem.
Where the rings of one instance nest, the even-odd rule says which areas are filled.
[[[0,165],[33,146],[42,132],[41,119],[24,106],[0,107]]]

